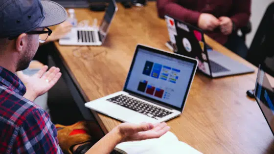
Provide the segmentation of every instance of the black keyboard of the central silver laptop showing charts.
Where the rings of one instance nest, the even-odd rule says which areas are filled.
[[[154,119],[159,119],[172,113],[168,110],[158,108],[156,106],[139,101],[126,95],[118,95],[108,99],[107,101],[125,107],[127,109],[137,111]]]

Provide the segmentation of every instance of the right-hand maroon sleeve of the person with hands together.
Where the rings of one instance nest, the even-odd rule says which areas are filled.
[[[251,15],[251,0],[233,0],[231,13],[230,19],[236,28],[246,26]]]

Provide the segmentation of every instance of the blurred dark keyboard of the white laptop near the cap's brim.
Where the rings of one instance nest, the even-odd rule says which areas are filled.
[[[90,30],[77,30],[77,40],[79,43],[94,43],[95,32]]]

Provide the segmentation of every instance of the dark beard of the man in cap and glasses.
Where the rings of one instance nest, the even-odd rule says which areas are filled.
[[[27,44],[25,53],[22,56],[22,58],[19,60],[16,71],[24,70],[29,66],[30,62],[32,61],[36,53],[36,52],[33,53],[32,49],[33,47],[31,46],[31,44]]]

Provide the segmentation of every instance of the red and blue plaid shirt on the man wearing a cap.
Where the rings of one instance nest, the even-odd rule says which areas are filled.
[[[22,81],[0,66],[0,154],[62,154],[49,115],[25,92]]]

